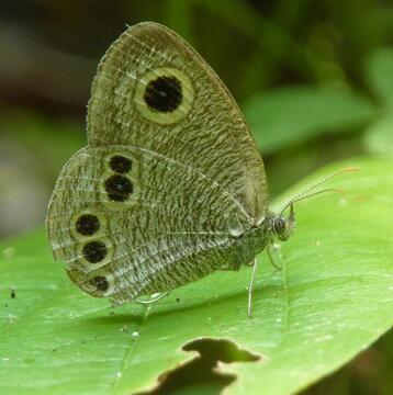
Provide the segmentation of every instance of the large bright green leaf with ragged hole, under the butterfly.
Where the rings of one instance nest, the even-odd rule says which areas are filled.
[[[393,162],[350,165],[361,171],[334,181],[346,198],[318,195],[296,205],[297,232],[282,245],[283,269],[260,255],[252,318],[249,268],[178,289],[149,311],[136,304],[112,311],[67,280],[43,232],[4,241],[0,393],[131,394],[194,358],[182,347],[203,337],[261,357],[220,364],[237,375],[228,394],[292,394],[338,369],[393,321]]]

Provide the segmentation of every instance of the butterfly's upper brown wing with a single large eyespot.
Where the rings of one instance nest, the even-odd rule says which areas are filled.
[[[263,163],[218,77],[176,33],[130,27],[102,59],[88,109],[92,147],[133,145],[215,180],[259,223],[268,199]]]

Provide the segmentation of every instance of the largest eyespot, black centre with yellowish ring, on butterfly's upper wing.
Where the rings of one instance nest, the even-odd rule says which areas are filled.
[[[181,70],[161,67],[146,72],[136,87],[134,101],[141,114],[159,124],[172,124],[191,110],[194,89]]]

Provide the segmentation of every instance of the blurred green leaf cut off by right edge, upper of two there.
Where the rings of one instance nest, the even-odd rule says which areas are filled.
[[[367,61],[367,78],[379,97],[393,105],[393,48],[380,48],[371,53]]]

